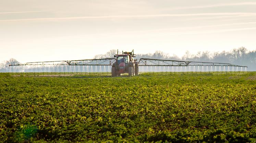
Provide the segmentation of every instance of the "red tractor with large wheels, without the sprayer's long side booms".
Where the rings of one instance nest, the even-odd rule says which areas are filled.
[[[121,76],[123,73],[128,73],[129,76],[139,74],[139,65],[137,59],[133,59],[134,52],[122,52],[122,54],[116,54],[115,63],[112,65],[112,77]]]

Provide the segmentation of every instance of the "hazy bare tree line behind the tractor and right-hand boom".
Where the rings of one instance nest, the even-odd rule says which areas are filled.
[[[117,54],[117,50],[110,50],[106,54],[99,54],[94,58],[113,58],[114,54]],[[164,53],[163,51],[156,51],[155,53],[136,54],[136,58],[230,63],[235,65],[248,66],[247,70],[256,71],[256,50],[249,51],[245,47],[235,48],[231,51],[213,53],[209,51],[199,51],[197,54],[191,54],[189,51],[186,51],[182,57],[178,57],[175,54],[170,55],[168,53]]]

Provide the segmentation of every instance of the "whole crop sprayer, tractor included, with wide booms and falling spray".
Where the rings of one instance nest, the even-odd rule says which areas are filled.
[[[135,76],[139,73],[151,74],[191,74],[191,73],[213,73],[213,74],[244,74],[247,66],[229,63],[193,62],[141,58],[132,52],[123,52],[114,55],[114,58],[73,60],[73,61],[46,61],[29,62],[23,64],[9,65],[12,76],[70,76],[70,75],[111,75]],[[110,70],[111,69],[111,70]]]

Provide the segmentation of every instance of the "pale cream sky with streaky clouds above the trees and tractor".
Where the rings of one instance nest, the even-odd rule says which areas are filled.
[[[0,0],[0,62],[256,50],[255,0]]]

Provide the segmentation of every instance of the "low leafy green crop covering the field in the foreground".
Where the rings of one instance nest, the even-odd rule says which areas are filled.
[[[256,141],[256,73],[0,74],[0,142]]]

